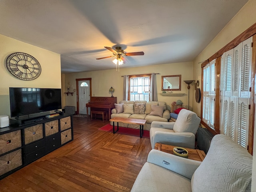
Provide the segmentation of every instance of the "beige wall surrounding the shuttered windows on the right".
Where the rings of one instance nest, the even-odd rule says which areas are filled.
[[[212,42],[196,57],[193,62],[193,77],[201,79],[201,64],[215,54],[218,50],[256,23],[256,0],[249,0],[247,4],[230,20],[230,22],[222,29],[222,31],[212,40]],[[201,103],[193,100],[193,110],[200,116]],[[254,154],[256,154],[256,131],[254,129]],[[253,174],[252,181],[256,181],[256,157],[253,157]],[[256,182],[252,182],[252,191],[256,191]]]

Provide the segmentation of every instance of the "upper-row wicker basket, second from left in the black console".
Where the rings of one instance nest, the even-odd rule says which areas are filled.
[[[43,138],[43,124],[38,124],[24,129],[25,145]]]

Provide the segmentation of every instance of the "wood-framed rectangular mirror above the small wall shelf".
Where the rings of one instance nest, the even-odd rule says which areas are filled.
[[[180,91],[181,90],[181,75],[166,75],[162,76],[162,91]]]

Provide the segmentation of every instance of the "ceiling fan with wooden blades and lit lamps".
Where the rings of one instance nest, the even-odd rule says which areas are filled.
[[[143,51],[141,51],[141,52],[125,53],[124,50],[122,50],[121,47],[116,47],[116,50],[112,49],[111,47],[104,47],[104,48],[106,48],[106,49],[110,50],[111,52],[113,52],[113,55],[112,56],[107,56],[107,57],[102,57],[102,58],[97,58],[97,59],[106,59],[106,58],[110,58],[110,57],[116,57],[117,58],[116,62],[118,62],[118,60],[121,59],[124,63],[126,63],[128,61],[124,58],[124,56],[144,55]]]

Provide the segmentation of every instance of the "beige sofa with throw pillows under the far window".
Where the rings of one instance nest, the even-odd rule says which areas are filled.
[[[170,119],[170,110],[167,109],[166,102],[146,102],[146,101],[120,101],[112,109],[111,118],[124,117],[134,119],[146,119],[144,130],[150,130],[153,121],[168,122]],[[113,125],[113,122],[111,122]],[[121,127],[139,129],[139,125],[119,123]]]

